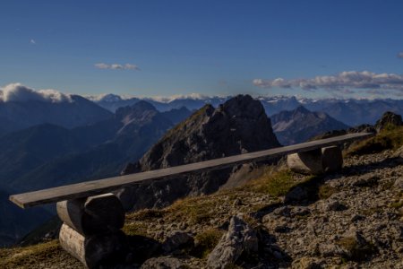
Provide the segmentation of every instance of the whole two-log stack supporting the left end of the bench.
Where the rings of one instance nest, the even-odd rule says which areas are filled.
[[[57,203],[64,222],[60,246],[88,268],[122,258],[126,243],[124,209],[116,195],[95,195]]]

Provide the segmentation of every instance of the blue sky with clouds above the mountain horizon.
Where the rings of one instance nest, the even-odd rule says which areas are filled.
[[[4,0],[0,10],[1,86],[403,94],[403,1]]]

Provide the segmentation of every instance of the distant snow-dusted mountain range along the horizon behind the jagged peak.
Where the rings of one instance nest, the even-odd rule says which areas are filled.
[[[228,97],[208,97],[202,95],[179,96],[171,98],[132,98],[124,99],[118,95],[107,94],[102,98],[92,97],[91,100],[103,108],[115,111],[116,108],[124,107],[127,104],[133,104],[139,100],[149,101],[159,111],[167,111],[172,108],[185,107],[189,110],[199,109],[205,104],[211,104],[217,107],[224,103]],[[278,114],[284,110],[293,110],[299,106],[304,106],[311,111],[322,111],[330,117],[346,123],[348,126],[357,126],[362,124],[374,124],[376,120],[382,117],[386,111],[392,111],[403,114],[403,100],[340,100],[340,99],[307,99],[295,96],[259,96],[258,100],[268,116]]]

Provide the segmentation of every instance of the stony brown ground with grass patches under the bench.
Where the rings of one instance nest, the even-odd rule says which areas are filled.
[[[244,187],[129,214],[120,268],[403,268],[401,153],[353,155],[323,177],[253,173]],[[2,268],[79,266],[56,241],[0,250]]]

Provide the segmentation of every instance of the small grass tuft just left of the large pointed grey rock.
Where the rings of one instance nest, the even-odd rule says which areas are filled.
[[[194,237],[195,247],[191,254],[199,258],[206,258],[217,246],[223,234],[222,230],[217,229],[204,230],[197,234]]]

